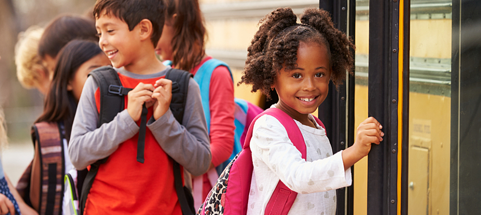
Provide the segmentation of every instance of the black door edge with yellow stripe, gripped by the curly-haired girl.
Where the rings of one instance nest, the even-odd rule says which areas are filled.
[[[368,156],[367,214],[407,214],[410,0],[370,0],[369,11],[368,115],[385,134]]]

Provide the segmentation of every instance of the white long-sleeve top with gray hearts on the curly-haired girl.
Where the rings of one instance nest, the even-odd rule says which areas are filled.
[[[263,115],[255,122],[248,214],[264,214],[279,180],[298,192],[289,214],[336,214],[336,189],[351,185],[351,169],[344,170],[341,151],[332,154],[326,131],[311,114],[309,118],[317,128],[294,120],[306,142],[306,160],[274,116]]]

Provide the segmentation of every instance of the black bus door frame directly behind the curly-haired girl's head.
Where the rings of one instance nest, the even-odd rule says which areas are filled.
[[[334,25],[355,42],[356,0],[319,0],[319,7],[329,11]],[[354,55],[354,50],[351,51]],[[354,143],[354,78],[354,75],[348,74],[337,90],[331,82],[328,96],[319,106],[318,117],[326,126],[333,153]],[[354,166],[351,167],[351,173],[354,175]],[[336,195],[336,214],[352,215],[354,186],[338,189]]]

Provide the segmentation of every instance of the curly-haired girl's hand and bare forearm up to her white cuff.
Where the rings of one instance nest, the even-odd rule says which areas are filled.
[[[365,157],[371,150],[371,143],[379,144],[382,141],[384,132],[381,129],[381,123],[372,116],[359,124],[354,145],[342,151],[344,169],[348,169]]]

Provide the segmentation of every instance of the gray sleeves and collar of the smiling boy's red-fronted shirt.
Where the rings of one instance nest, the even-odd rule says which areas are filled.
[[[161,77],[168,69],[171,68],[141,75],[116,68],[120,74],[136,79]],[[97,128],[99,120],[95,102],[97,88],[97,83],[89,76],[82,90],[72,126],[69,156],[77,169],[84,169],[95,161],[109,156],[119,144],[139,132],[139,126],[130,117],[127,109],[119,112],[109,123]],[[152,131],[160,147],[190,173],[200,175],[207,171],[211,159],[209,136],[199,87],[192,78],[189,80],[182,124],[177,122],[169,109],[157,120],[152,116],[147,122],[147,127]]]

